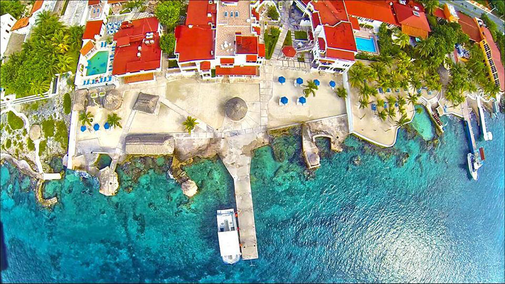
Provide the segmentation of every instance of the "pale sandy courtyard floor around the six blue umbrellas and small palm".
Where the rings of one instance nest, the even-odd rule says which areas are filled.
[[[279,69],[274,69],[273,74],[273,94],[268,103],[269,128],[345,114],[345,101],[338,98],[329,85],[330,80],[333,80],[337,87],[341,86],[342,76]],[[284,85],[278,82],[279,76],[286,78]],[[316,96],[311,95],[307,98],[305,106],[296,105],[297,98],[304,96],[304,87],[294,86],[297,77],[304,79],[304,84],[313,79],[318,79],[321,82]],[[279,106],[281,97],[288,98],[289,102],[286,106]]]

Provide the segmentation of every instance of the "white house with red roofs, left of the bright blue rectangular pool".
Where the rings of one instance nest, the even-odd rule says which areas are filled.
[[[297,5],[303,7],[305,3],[298,2]],[[358,50],[352,31],[353,24],[344,2],[310,1],[305,9],[311,18],[311,33],[314,37],[311,70],[329,73],[347,71],[354,64]]]

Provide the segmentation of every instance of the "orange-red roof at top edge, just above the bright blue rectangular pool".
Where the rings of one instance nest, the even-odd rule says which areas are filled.
[[[391,2],[391,1],[389,1]],[[388,1],[345,0],[347,14],[399,26]]]

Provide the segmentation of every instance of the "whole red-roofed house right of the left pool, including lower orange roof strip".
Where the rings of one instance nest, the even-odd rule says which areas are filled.
[[[125,77],[125,82],[129,83],[137,82],[137,76],[142,80],[154,80],[154,72],[161,71],[160,32],[156,17],[123,22],[114,34],[116,50],[112,74]]]

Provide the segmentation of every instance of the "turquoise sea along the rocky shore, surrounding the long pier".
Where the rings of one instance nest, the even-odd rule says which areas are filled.
[[[463,122],[442,121],[438,143],[402,129],[392,149],[348,137],[344,151],[332,153],[318,139],[315,172],[305,168],[299,136],[258,149],[251,165],[254,266],[219,257],[216,209],[235,206],[219,159],[186,168],[199,186],[192,199],[167,176],[169,158],[119,168],[115,197],[67,171],[46,184],[46,196],[60,200],[52,211],[27,192],[32,180],[3,164],[3,281],[503,282],[505,120],[488,119],[494,137],[478,141],[487,160],[476,182]]]

